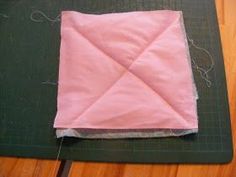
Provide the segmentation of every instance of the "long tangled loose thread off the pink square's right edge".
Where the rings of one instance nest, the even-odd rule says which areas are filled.
[[[198,66],[194,58],[191,58],[191,60],[192,60],[192,63],[193,63],[193,65],[194,65],[193,67],[199,72],[201,78],[202,78],[203,80],[205,80],[207,87],[211,87],[212,82],[211,82],[210,77],[209,77],[209,72],[214,68],[214,65],[215,65],[214,60],[213,60],[213,57],[212,57],[212,55],[210,54],[210,52],[209,52],[208,50],[206,50],[206,49],[204,49],[204,48],[202,48],[202,47],[197,46],[197,45],[194,43],[194,41],[189,38],[188,35],[187,35],[187,39],[188,39],[188,41],[191,43],[191,45],[192,45],[194,48],[205,52],[205,53],[209,56],[210,61],[211,61],[211,65],[210,65],[210,67],[209,67],[208,69],[204,69],[204,68]]]

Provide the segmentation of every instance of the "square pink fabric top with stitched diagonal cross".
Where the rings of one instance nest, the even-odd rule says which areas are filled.
[[[180,11],[62,13],[55,128],[196,129]]]

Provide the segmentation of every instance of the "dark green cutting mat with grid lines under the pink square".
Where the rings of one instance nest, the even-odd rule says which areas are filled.
[[[194,70],[199,133],[179,138],[63,141],[60,159],[110,162],[225,163],[232,140],[225,72],[214,0],[9,0],[0,2],[0,154],[56,158],[55,138],[60,23],[35,23],[34,10],[56,17],[62,10],[86,13],[182,10],[187,34],[209,50],[215,66],[208,88]],[[204,53],[191,56],[206,67]]]

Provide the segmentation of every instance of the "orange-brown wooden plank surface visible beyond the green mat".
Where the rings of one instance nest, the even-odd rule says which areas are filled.
[[[236,153],[236,1],[216,0]],[[60,161],[0,158],[0,177],[54,177]],[[73,162],[70,177],[236,177],[236,159],[224,165]]]

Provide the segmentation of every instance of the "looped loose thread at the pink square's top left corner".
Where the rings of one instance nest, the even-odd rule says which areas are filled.
[[[47,21],[49,22],[59,22],[60,21],[60,17],[61,15],[58,15],[56,16],[54,19],[53,18],[50,18],[48,17],[45,13],[43,13],[42,11],[40,10],[35,10],[31,13],[30,15],[30,19],[33,21],[33,22],[37,22],[37,23],[42,23],[44,22],[43,18],[46,19]]]

